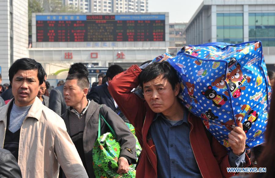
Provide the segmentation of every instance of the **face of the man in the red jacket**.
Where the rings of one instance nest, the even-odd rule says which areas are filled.
[[[173,104],[177,102],[179,92],[179,84],[172,89],[170,82],[162,76],[143,83],[144,98],[149,107],[155,113],[163,113],[169,111]]]

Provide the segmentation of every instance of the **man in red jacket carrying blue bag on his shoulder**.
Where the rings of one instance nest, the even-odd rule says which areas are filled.
[[[131,93],[139,84],[145,99]],[[142,146],[136,177],[230,177],[235,173],[226,168],[250,165],[242,124],[229,134],[228,154],[214,137],[207,137],[200,118],[180,103],[177,73],[168,62],[143,70],[133,65],[114,77],[108,89]]]

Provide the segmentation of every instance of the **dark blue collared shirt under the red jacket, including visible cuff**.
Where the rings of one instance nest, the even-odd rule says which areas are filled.
[[[149,133],[156,145],[157,171],[160,178],[201,177],[198,164],[190,144],[189,111],[185,109],[180,121],[171,121],[157,113]],[[245,165],[245,152],[241,156],[229,154],[231,167]]]

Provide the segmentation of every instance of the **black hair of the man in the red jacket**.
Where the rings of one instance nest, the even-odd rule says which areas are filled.
[[[167,61],[152,63],[141,71],[138,76],[138,80],[142,90],[143,83],[149,82],[160,75],[162,75],[163,78],[167,78],[168,82],[172,86],[172,89],[174,90],[176,84],[179,82],[179,79],[177,71]]]

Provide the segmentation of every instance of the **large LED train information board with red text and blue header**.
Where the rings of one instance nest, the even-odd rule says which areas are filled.
[[[36,42],[165,41],[165,15],[36,15]]]

